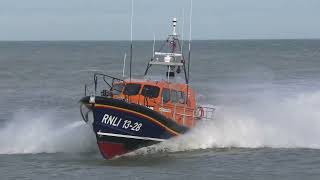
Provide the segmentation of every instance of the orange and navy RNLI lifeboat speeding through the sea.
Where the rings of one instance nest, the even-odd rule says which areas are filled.
[[[80,100],[81,115],[92,124],[104,158],[166,141],[188,132],[199,121],[212,118],[214,109],[199,106],[189,85],[189,68],[176,23],[174,18],[173,33],[159,51],[153,52],[143,79],[133,79],[131,72],[127,79],[95,73],[93,93],[89,94],[89,86],[85,85],[85,96]],[[151,78],[154,67],[165,69],[162,78]],[[178,74],[183,74],[184,79]]]

